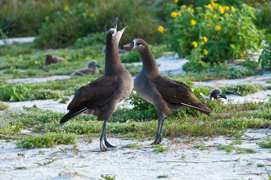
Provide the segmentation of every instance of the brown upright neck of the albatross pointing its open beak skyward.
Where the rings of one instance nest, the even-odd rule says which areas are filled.
[[[106,43],[105,75],[120,70],[120,66],[122,64],[119,57],[118,44]]]

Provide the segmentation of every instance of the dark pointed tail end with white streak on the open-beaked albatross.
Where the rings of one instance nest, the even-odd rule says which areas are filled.
[[[94,103],[94,104],[87,104],[87,103],[84,103],[84,104],[81,104],[81,105],[78,105],[76,106],[75,108],[71,109],[68,113],[66,113],[62,119],[60,120],[60,124],[63,124],[65,122],[67,122],[68,120],[92,109],[92,108],[96,108],[98,107],[100,104],[97,102],[97,103]]]

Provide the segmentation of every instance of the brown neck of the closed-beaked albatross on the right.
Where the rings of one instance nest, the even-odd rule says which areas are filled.
[[[160,74],[157,62],[149,48],[140,49],[139,54],[143,62],[142,70],[144,72]]]

